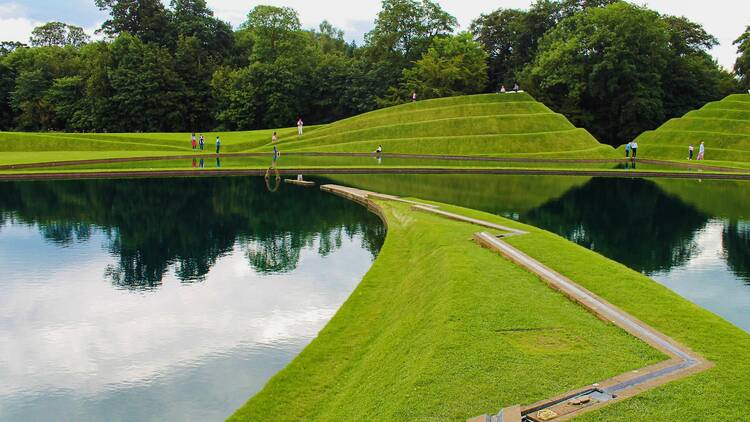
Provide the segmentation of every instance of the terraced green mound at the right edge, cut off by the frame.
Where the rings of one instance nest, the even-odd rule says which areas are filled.
[[[637,138],[644,158],[685,160],[688,146],[706,144],[706,160],[750,165],[750,95],[706,104]],[[622,150],[622,147],[620,148]]]

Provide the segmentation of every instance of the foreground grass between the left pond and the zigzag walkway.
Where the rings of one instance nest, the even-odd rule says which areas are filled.
[[[372,269],[231,420],[458,421],[664,359],[479,247],[476,226],[383,205]]]

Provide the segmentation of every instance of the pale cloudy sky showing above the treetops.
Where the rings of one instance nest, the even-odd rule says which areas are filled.
[[[167,2],[165,0],[165,2]],[[529,0],[440,0],[449,13],[458,18],[462,29],[481,13],[500,7],[528,8]],[[750,2],[747,0],[650,0],[636,1],[662,13],[686,16],[702,24],[716,36],[721,45],[712,54],[724,67],[731,69],[737,57],[732,42],[750,25]],[[380,10],[380,0],[208,0],[216,16],[239,25],[247,12],[257,4],[289,6],[296,9],[305,27],[315,27],[323,19],[343,29],[348,40],[362,41]],[[105,19],[94,0],[0,0],[0,40],[27,42],[38,24],[60,20],[83,26],[92,33]]]

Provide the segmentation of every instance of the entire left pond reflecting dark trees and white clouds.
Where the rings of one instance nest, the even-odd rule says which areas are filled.
[[[0,186],[2,421],[223,420],[385,234],[359,205],[263,179]]]

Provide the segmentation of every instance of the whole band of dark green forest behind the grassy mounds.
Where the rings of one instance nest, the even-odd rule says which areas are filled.
[[[383,0],[362,45],[286,7],[256,6],[233,28],[205,0],[92,1],[109,14],[103,40],[50,22],[28,45],[0,44],[0,130],[288,127],[519,83],[618,145],[750,85],[750,27],[730,73],[699,24],[621,1],[537,0],[459,32],[436,2]]]

